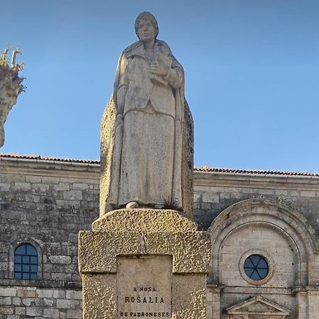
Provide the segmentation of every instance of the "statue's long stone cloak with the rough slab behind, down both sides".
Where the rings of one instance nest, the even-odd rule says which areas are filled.
[[[121,179],[121,155],[123,143],[123,118],[118,116],[118,87],[121,79],[121,62],[123,57],[140,50],[142,43],[137,41],[127,47],[118,61],[114,82],[113,99],[103,114],[101,123],[101,211],[106,213],[119,208],[118,194]],[[186,101],[184,100],[184,70],[172,55],[164,41],[156,40],[157,50],[172,58],[172,66],[179,67],[183,72],[183,81],[179,89],[172,88],[175,100],[174,116],[174,163],[172,179],[172,198],[169,205],[186,212],[191,216],[193,203],[193,121]],[[112,125],[113,129],[107,128]],[[106,132],[108,130],[108,132]],[[105,137],[107,138],[105,139]],[[104,141],[103,141],[104,138]],[[183,160],[183,162],[182,162]],[[104,178],[103,178],[104,174]]]

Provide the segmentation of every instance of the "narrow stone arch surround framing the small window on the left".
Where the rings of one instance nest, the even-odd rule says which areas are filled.
[[[22,244],[30,244],[35,247],[38,252],[38,279],[43,279],[43,251],[41,248],[42,242],[30,237],[18,238],[11,242],[9,247],[9,279],[14,279],[14,252],[16,248]]]

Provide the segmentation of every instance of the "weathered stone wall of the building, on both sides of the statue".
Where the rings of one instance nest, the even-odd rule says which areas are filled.
[[[296,315],[291,318],[316,318],[319,305],[316,288],[319,282],[318,197],[319,177],[316,176],[195,170],[194,220],[202,230],[207,230],[214,220],[216,223],[218,216],[225,214],[227,219],[225,209],[254,198],[272,200],[296,212],[301,220],[305,218],[306,226],[301,226],[308,227],[309,234],[303,237],[312,237],[314,242],[301,240],[298,244],[312,253],[308,253],[303,263],[304,282],[296,285],[296,272],[291,266],[286,268],[289,271],[283,270],[287,260],[294,263],[294,257],[289,244],[279,238],[280,234],[274,235],[268,226],[256,225],[250,231],[240,228],[233,237],[227,238],[227,245],[220,250],[223,262],[219,270],[213,268],[214,273],[219,272],[219,279],[208,285],[208,319],[219,319],[220,314],[227,318],[225,308],[258,293],[295,309]],[[270,209],[269,216],[272,214]],[[98,217],[98,162],[0,156],[0,318],[82,318],[78,232],[90,230],[91,223]],[[238,225],[241,218],[237,218]],[[297,233],[301,232],[301,226],[300,229],[296,226]],[[212,237],[215,233],[212,232]],[[274,250],[270,254],[279,272],[269,281],[269,287],[250,286],[242,281],[237,259],[242,247],[265,246],[269,240],[265,236],[272,237],[267,247]],[[37,281],[13,279],[14,250],[24,242],[38,250]],[[298,250],[298,247],[293,249]],[[218,259],[218,250],[212,252],[213,261]],[[228,261],[232,252],[237,258],[233,264]],[[271,290],[274,287],[276,291]]]

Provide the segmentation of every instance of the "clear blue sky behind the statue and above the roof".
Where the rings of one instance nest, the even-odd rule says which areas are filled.
[[[1,50],[22,47],[28,89],[0,152],[98,159],[141,11],[184,66],[196,166],[319,172],[318,0],[1,1]]]

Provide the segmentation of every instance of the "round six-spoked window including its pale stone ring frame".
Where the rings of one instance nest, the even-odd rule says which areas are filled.
[[[240,258],[242,278],[252,285],[266,284],[274,274],[274,261],[264,250],[248,250]]]

